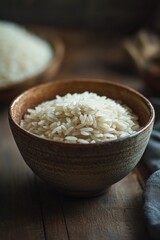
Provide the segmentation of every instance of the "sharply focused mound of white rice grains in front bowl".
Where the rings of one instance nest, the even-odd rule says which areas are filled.
[[[67,143],[111,141],[140,128],[129,107],[89,92],[56,96],[28,109],[20,126],[43,138]]]

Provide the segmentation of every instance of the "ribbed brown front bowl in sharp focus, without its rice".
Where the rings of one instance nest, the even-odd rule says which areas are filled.
[[[141,130],[129,137],[94,144],[59,143],[40,138],[20,127],[28,108],[57,94],[96,92],[120,99],[139,116]],[[94,196],[125,177],[136,166],[148,143],[154,109],[135,90],[105,80],[54,81],[29,89],[11,104],[9,122],[17,146],[28,166],[58,191]]]

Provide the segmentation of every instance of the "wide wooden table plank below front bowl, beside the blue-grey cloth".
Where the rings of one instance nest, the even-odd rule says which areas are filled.
[[[98,198],[62,199],[70,236],[78,240],[149,239],[142,220],[141,195],[142,189],[133,173]]]

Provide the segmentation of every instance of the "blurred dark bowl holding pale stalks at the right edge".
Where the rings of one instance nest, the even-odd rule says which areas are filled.
[[[160,94],[160,38],[144,30],[123,43],[134,68],[151,93]]]

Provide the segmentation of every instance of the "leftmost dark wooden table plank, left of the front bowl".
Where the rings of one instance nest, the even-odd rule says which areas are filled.
[[[44,240],[35,177],[15,146],[6,110],[0,114],[0,239]]]

